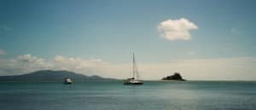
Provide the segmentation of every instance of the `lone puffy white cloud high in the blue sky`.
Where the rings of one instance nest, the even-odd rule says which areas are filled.
[[[181,18],[179,20],[165,20],[158,25],[160,34],[168,40],[189,40],[190,30],[196,30],[198,27],[191,21]]]

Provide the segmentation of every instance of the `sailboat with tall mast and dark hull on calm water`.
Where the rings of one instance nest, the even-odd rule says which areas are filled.
[[[135,55],[133,53],[132,55],[132,78],[127,78],[124,81],[124,84],[143,84],[139,79],[138,71],[137,71],[137,65],[135,61]]]

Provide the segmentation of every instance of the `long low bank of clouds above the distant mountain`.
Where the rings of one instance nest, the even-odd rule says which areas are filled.
[[[34,55],[19,55],[13,59],[0,60],[0,75],[15,75],[38,70],[67,70],[87,75],[102,72],[108,62],[101,59],[82,59],[56,55],[54,60],[45,60]]]

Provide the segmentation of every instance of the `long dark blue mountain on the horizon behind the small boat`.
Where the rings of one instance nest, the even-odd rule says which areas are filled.
[[[73,81],[111,81],[114,78],[102,78],[100,76],[86,76],[75,72],[41,70],[15,76],[0,76],[0,81],[63,81],[64,78]]]

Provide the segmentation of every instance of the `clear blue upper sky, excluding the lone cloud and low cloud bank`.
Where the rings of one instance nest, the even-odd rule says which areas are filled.
[[[0,58],[50,61],[61,55],[124,64],[132,51],[145,64],[254,58],[255,5],[253,0],[2,0]],[[189,40],[161,36],[161,22],[182,18],[198,27],[189,31]]]

